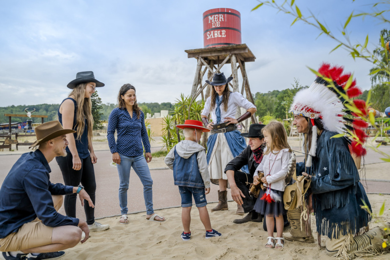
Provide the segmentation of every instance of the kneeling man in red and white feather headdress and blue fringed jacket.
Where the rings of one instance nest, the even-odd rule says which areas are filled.
[[[296,94],[291,112],[298,133],[305,135],[305,161],[297,163],[296,173],[311,180],[307,201],[316,214],[319,244],[326,235],[328,255],[353,259],[380,253],[385,233],[365,232],[371,205],[351,154],[366,154],[368,113],[365,101],[353,99],[362,92],[343,70],[323,64],[312,85]]]

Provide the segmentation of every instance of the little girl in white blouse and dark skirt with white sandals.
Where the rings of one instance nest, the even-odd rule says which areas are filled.
[[[266,192],[260,190],[254,210],[266,217],[268,232],[266,247],[283,248],[283,215],[286,214],[283,192],[291,156],[290,146],[287,143],[287,132],[281,122],[270,122],[262,129],[262,133],[264,141],[267,143],[267,150],[264,152],[261,163],[257,166],[253,176],[253,184],[259,184],[258,171],[263,172],[264,177],[261,178],[261,182],[264,183],[267,190]],[[277,237],[273,236],[275,223]]]

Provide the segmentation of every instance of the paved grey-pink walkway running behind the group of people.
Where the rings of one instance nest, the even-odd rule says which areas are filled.
[[[387,150],[388,151],[388,150]],[[298,154],[297,154],[298,155]],[[98,158],[95,164],[95,175],[97,182],[96,189],[96,218],[103,218],[107,216],[115,216],[120,214],[118,187],[119,177],[117,169],[110,166],[112,156],[109,150],[96,151]],[[20,154],[3,155],[0,156],[0,184],[3,182],[12,165],[20,157]],[[302,161],[302,156],[297,156],[297,161]],[[378,154],[369,151],[365,157],[365,163],[380,163],[382,162]],[[55,160],[51,161],[51,182],[61,182],[62,175]],[[366,167],[369,167],[367,165]],[[180,195],[177,186],[174,186],[172,170],[151,170],[153,179],[153,204],[154,209],[179,207]],[[363,182],[363,186],[369,193],[390,193],[389,182]],[[134,171],[130,174],[130,187],[128,190],[128,207],[129,213],[145,211],[143,187],[140,179]],[[212,185],[210,194],[206,195],[207,202],[218,201],[217,196],[218,186]],[[231,200],[230,192],[228,192],[228,199]],[[236,209],[231,209],[236,210]],[[60,209],[60,213],[64,214],[64,209]],[[80,202],[77,203],[77,216],[85,218]]]

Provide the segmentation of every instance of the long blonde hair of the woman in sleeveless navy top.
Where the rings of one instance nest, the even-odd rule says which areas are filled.
[[[87,119],[87,130],[88,130],[88,140],[92,140],[92,128],[94,126],[94,118],[92,117],[92,102],[89,97],[85,97],[85,88],[87,83],[80,83],[72,92],[70,96],[74,96],[74,99],[77,103],[77,112],[76,112],[76,126],[73,130],[77,131],[77,138],[81,139],[81,136],[84,133],[85,119]]]

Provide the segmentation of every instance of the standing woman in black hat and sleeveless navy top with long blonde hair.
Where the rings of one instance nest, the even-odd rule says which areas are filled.
[[[76,79],[67,87],[72,89],[69,96],[62,101],[58,109],[58,120],[65,129],[73,129],[74,134],[67,134],[69,145],[66,147],[66,157],[56,157],[62,172],[65,185],[78,186],[85,189],[95,204],[96,181],[94,166],[97,157],[92,147],[92,117],[91,96],[97,87],[104,83],[95,79],[92,71],[76,74]],[[81,183],[81,185],[80,185]],[[65,195],[64,207],[67,216],[76,218],[77,194]],[[95,221],[94,208],[84,203],[85,216],[90,231],[101,231],[109,228]]]

